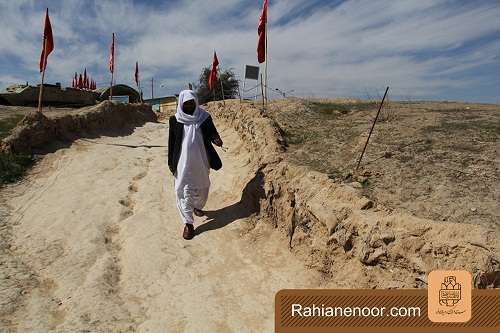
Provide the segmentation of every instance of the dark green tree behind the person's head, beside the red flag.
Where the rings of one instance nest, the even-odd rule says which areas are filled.
[[[213,90],[208,90],[208,77],[210,76],[210,67],[204,67],[201,70],[200,80],[195,85],[196,93],[200,104],[205,104],[211,101],[222,100],[221,81],[224,89],[224,98],[238,98],[238,80],[231,69],[219,71],[217,75],[217,82]]]

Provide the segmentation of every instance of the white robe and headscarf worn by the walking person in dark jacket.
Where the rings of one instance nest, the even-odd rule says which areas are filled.
[[[182,111],[184,102],[194,99],[196,109],[193,115]],[[175,117],[184,124],[181,154],[174,174],[176,205],[183,223],[193,223],[193,209],[202,209],[208,199],[210,188],[210,164],[208,162],[201,123],[208,113],[198,106],[196,95],[191,90],[179,94]]]

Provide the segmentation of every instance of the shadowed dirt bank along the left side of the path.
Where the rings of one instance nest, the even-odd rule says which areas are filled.
[[[148,121],[156,122],[156,115],[150,105],[110,101],[48,117],[32,112],[2,141],[1,150],[33,153],[53,142],[71,142],[77,138],[102,134],[127,134]]]

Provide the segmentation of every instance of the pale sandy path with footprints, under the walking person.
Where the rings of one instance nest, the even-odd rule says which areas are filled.
[[[321,287],[278,231],[246,233],[254,216],[238,201],[254,166],[219,130],[229,149],[191,241],[166,147],[146,147],[166,145],[164,123],[77,140],[4,188],[0,331],[270,332],[278,290]]]

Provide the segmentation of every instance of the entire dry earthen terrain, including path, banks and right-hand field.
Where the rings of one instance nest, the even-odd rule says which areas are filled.
[[[378,102],[206,105],[227,150],[189,242],[170,114],[19,108],[2,149],[37,158],[0,190],[1,327],[271,331],[283,288],[425,288],[437,268],[498,288],[498,106],[389,101],[355,172]]]

